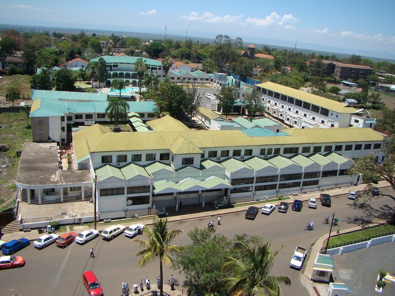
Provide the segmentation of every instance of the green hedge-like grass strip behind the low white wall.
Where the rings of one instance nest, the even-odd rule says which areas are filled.
[[[384,224],[376,227],[369,227],[331,237],[328,248],[330,249],[336,246],[355,244],[357,242],[367,241],[373,237],[379,237],[393,233],[395,233],[395,225]]]

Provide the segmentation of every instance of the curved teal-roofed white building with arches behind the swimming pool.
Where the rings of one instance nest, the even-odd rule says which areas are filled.
[[[102,56],[106,61],[106,67],[108,71],[108,78],[106,80],[106,86],[110,87],[113,85],[114,79],[123,79],[128,82],[129,85],[138,85],[138,76],[135,69],[135,64],[139,57],[129,56]],[[157,74],[159,78],[165,77],[166,74],[163,70],[162,63],[148,58],[142,58],[144,63],[147,65],[147,74]],[[90,60],[91,62],[97,62],[99,58]],[[99,82],[94,82],[94,85],[99,85]]]

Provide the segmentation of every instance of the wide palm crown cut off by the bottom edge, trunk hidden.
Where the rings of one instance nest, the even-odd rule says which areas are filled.
[[[226,271],[234,276],[226,281],[230,284],[228,292],[235,296],[280,296],[281,283],[291,285],[291,280],[282,275],[270,276],[270,271],[278,251],[270,250],[270,240],[265,242],[259,235],[251,237],[252,246],[245,242],[236,242],[235,248],[240,251],[241,259],[228,257],[222,265]]]

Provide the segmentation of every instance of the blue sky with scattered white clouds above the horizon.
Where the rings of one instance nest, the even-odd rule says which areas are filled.
[[[114,30],[395,58],[394,0],[0,0],[0,23]],[[370,55],[369,55],[370,53]]]

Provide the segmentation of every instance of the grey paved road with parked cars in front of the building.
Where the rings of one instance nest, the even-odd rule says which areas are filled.
[[[390,188],[382,190],[384,194],[394,191]],[[395,210],[394,202],[389,197],[381,197],[372,201],[367,210],[353,206],[347,196],[332,198],[332,207],[326,208],[318,205],[317,209],[309,209],[307,203],[302,211],[282,214],[277,211],[270,216],[259,214],[254,221],[245,220],[244,213],[235,213],[221,217],[222,225],[218,232],[233,237],[235,234],[260,234],[272,240],[272,248],[280,244],[281,249],[272,274],[281,274],[290,277],[291,287],[283,287],[284,296],[308,295],[301,285],[299,277],[301,271],[289,268],[289,260],[297,245],[310,247],[318,237],[329,230],[328,225],[321,222],[325,215],[336,213],[341,229],[345,229],[363,219],[376,220],[386,218]],[[185,245],[190,242],[187,232],[194,227],[204,228],[207,222],[216,217],[186,220],[170,223],[170,228],[184,229],[185,232],[175,241],[175,244]],[[308,221],[315,221],[314,231],[305,231],[304,226]],[[89,258],[89,249],[95,251],[95,259]],[[119,295],[121,282],[137,283],[139,278],[149,277],[152,283],[158,276],[158,262],[149,264],[144,268],[138,267],[138,258],[135,253],[138,245],[130,242],[123,235],[113,241],[94,239],[84,246],[72,244],[65,249],[51,245],[44,250],[36,250],[33,246],[17,253],[26,258],[26,266],[18,269],[2,270],[0,276],[0,295],[22,294],[23,296],[38,295],[87,295],[80,281],[81,274],[92,269],[104,288],[105,295]],[[177,272],[164,268],[165,278],[173,273],[182,282],[183,277]],[[17,287],[17,288],[16,288]],[[182,287],[178,287],[180,290]],[[140,293],[141,294],[141,293]]]

